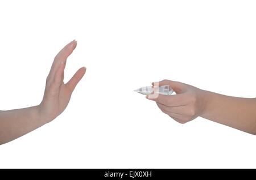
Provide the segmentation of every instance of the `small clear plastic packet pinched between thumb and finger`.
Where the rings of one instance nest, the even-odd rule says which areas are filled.
[[[151,95],[154,91],[160,95],[172,95],[174,90],[170,88],[169,85],[163,85],[158,88],[152,88],[151,86],[142,87],[134,90],[135,92],[141,93],[142,95]]]

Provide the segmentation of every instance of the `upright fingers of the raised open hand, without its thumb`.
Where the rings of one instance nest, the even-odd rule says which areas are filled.
[[[76,45],[77,45],[77,41],[73,40],[69,42],[69,44],[67,44],[63,49],[61,49],[60,52],[56,55],[52,63],[51,70],[49,72],[49,79],[53,79],[61,63],[64,64],[64,68],[65,68],[67,58],[69,57],[69,55],[72,54],[73,50],[76,48]]]

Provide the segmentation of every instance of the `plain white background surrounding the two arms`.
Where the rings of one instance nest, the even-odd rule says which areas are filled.
[[[255,97],[255,1],[1,1],[0,109],[38,105],[69,41],[63,114],[0,146],[0,168],[256,168],[255,136],[181,125],[133,92],[162,79]]]

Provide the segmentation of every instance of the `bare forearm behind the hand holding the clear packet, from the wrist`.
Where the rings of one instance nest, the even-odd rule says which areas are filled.
[[[204,91],[206,103],[201,117],[256,134],[256,98],[224,96]]]

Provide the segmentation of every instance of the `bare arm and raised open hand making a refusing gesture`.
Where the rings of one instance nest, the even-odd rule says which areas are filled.
[[[0,111],[0,144],[10,142],[51,122],[65,110],[72,92],[86,71],[85,67],[81,67],[69,82],[64,84],[67,58],[76,45],[77,41],[73,40],[56,55],[46,79],[43,100],[39,105]]]

